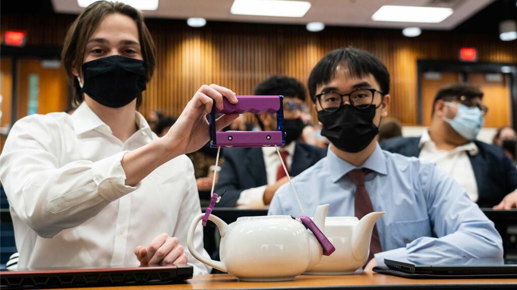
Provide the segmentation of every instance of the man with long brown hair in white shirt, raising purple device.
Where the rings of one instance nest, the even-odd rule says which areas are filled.
[[[14,124],[0,156],[20,267],[194,265],[187,227],[201,212],[184,154],[208,141],[205,114],[235,93],[202,86],[163,137],[136,108],[155,69],[142,15],[108,1],[70,27],[63,63],[79,105],[73,115],[31,115]],[[47,96],[50,98],[51,96]],[[222,116],[218,129],[238,114]],[[203,251],[198,228],[194,244]]]

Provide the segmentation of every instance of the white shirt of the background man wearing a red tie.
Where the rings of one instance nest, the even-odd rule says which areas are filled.
[[[285,166],[287,166],[288,170],[291,170],[291,165],[293,164],[295,147],[296,141],[292,141],[280,148],[280,151],[287,151],[289,153],[285,158]],[[266,186],[277,182],[278,167],[281,165],[277,150],[275,147],[262,147],[262,155],[264,156],[264,165],[266,167],[267,185],[242,190],[237,200],[237,205],[263,206]]]

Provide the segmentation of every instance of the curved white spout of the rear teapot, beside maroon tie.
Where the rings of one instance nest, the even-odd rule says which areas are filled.
[[[352,233],[352,252],[357,261],[366,260],[370,250],[373,226],[385,212],[374,212],[363,216]]]

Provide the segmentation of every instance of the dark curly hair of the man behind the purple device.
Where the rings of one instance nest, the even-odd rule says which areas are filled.
[[[297,98],[302,101],[306,99],[306,91],[303,85],[294,77],[285,75],[273,75],[255,87],[254,95],[283,95]],[[264,124],[257,118],[258,125],[264,130]]]

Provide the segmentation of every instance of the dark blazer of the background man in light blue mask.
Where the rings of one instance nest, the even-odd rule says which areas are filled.
[[[383,141],[384,150],[405,156],[420,155],[420,137],[396,137]],[[470,164],[478,185],[478,205],[492,207],[517,188],[517,169],[499,147],[475,140],[478,154],[470,155]],[[467,153],[468,154],[468,153]]]

